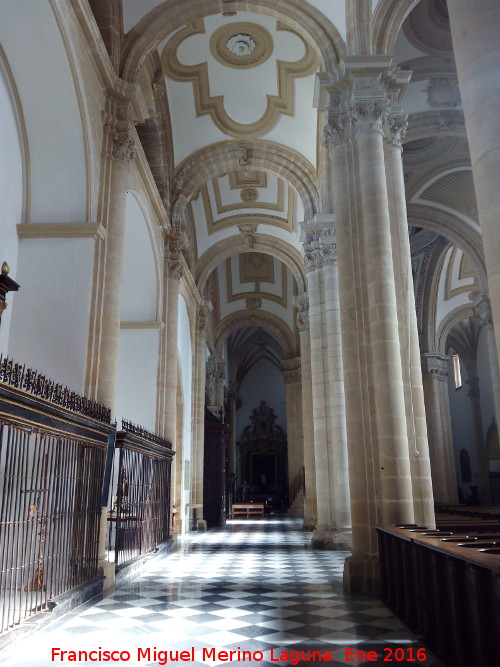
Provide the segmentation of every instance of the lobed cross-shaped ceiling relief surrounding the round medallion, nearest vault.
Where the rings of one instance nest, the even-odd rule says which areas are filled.
[[[211,25],[208,19],[207,22]],[[275,30],[273,41],[269,31],[258,23],[232,22],[216,29],[212,25],[211,34],[207,34],[203,20],[189,23],[167,42],[162,53],[163,73],[174,81],[192,83],[197,117],[209,115],[219,130],[232,137],[261,137],[281,115],[294,116],[294,79],[307,77],[319,67],[316,53],[295,31],[281,22],[276,23]],[[280,31],[294,36],[293,48],[281,44]],[[196,48],[195,42],[184,46],[196,36],[203,37]],[[280,55],[290,57],[292,52],[296,53],[296,60],[280,59]],[[186,62],[196,60],[193,53],[203,54],[200,62]],[[203,57],[207,60],[203,61]],[[230,83],[233,79],[228,68],[239,71],[240,85]],[[252,85],[254,79],[247,74],[254,68],[259,68],[259,87]],[[223,94],[212,95],[212,90],[222,90]],[[251,92],[253,101],[247,104],[244,100]],[[264,112],[257,120],[242,122],[245,114],[251,117],[254,112],[255,117],[260,109]]]

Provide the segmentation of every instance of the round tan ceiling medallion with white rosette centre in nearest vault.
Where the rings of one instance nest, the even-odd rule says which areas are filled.
[[[228,23],[210,38],[213,57],[226,67],[248,69],[265,62],[273,52],[273,40],[257,23]]]

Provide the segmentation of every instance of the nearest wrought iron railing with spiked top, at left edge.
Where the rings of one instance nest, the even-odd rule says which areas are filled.
[[[0,360],[0,634],[97,575],[107,411]]]

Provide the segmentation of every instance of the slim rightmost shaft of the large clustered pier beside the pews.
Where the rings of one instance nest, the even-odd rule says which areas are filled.
[[[427,440],[424,391],[420,362],[415,293],[408,237],[406,194],[401,159],[402,140],[406,134],[406,116],[391,114],[386,125],[385,170],[389,193],[392,259],[398,329],[403,370],[404,402],[407,437],[412,467],[413,505],[415,522],[428,525],[434,521],[431,466]]]

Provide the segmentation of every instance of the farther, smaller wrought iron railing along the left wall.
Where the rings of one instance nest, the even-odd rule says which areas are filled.
[[[117,566],[154,551],[170,537],[170,442],[129,422],[117,433],[108,553]],[[145,434],[147,436],[145,437]]]

